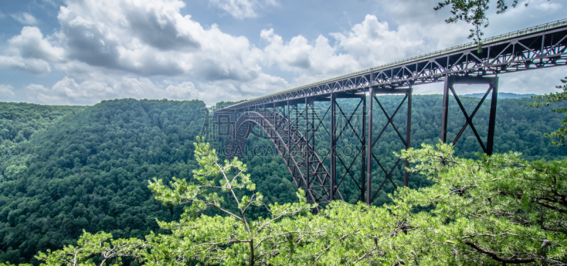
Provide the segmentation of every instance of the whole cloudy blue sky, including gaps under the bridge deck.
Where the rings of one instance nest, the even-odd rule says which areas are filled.
[[[471,26],[445,23],[437,1],[4,0],[0,101],[252,99],[471,42]],[[498,15],[493,2],[485,37],[567,18],[567,1],[520,1]],[[556,92],[565,76],[563,67],[502,74],[499,91]]]

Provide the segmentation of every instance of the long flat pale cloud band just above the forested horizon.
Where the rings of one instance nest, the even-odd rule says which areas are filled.
[[[42,84],[30,84],[25,88],[30,101],[40,104],[96,104],[104,99],[200,99],[212,105],[221,100],[237,101],[249,96],[262,96],[279,88],[285,88],[287,82],[279,77],[262,74],[258,82],[152,82],[142,77],[121,77],[106,79],[88,79],[76,82],[64,77],[52,87]]]

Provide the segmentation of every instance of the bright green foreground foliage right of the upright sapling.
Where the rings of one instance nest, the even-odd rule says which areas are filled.
[[[422,147],[403,157],[434,185],[400,188],[381,207],[334,201],[320,215],[284,220],[301,233],[270,265],[567,264],[567,160],[471,160],[450,145]]]

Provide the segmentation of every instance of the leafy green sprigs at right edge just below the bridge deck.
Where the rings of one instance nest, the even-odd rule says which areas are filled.
[[[535,102],[534,104],[530,104],[530,106],[535,106],[535,107],[539,107],[539,106],[543,106],[545,105],[549,105],[549,104],[554,104],[558,101],[564,101],[567,99],[567,77],[565,77],[565,79],[561,79],[561,83],[563,83],[563,85],[561,86],[556,86],[557,89],[563,89],[563,92],[556,92],[554,94],[544,94],[541,96],[532,96],[533,99],[544,99],[545,102]],[[553,109],[551,111],[554,111],[555,113],[564,113],[565,116],[567,116],[567,107],[561,107],[558,109]],[[558,140],[552,140],[551,144],[552,145],[565,145],[565,142],[567,141],[567,118],[564,118],[563,120],[561,120],[561,126],[558,128],[557,131],[552,132],[551,134],[546,133],[545,134],[546,137],[557,137]]]

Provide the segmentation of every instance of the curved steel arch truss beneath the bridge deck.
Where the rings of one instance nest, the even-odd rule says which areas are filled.
[[[289,111],[287,117],[290,117]],[[254,125],[269,136],[286,163],[293,182],[305,191],[308,200],[318,204],[329,203],[332,200],[329,171],[292,119],[276,111],[264,109],[242,113],[232,133],[231,157],[244,155],[244,145]],[[338,195],[342,199],[340,193]]]

